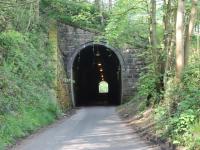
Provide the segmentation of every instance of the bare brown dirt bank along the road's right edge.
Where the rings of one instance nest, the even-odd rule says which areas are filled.
[[[129,102],[120,106],[117,111],[120,117],[127,121],[137,133],[145,140],[157,144],[162,150],[178,150],[169,140],[163,139],[156,134],[156,124],[153,119],[153,109],[148,108],[144,112],[138,110],[138,102]]]

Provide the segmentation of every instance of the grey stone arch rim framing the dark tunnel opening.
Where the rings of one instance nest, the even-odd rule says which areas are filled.
[[[119,64],[120,64],[120,67],[121,67],[121,71],[120,71],[120,76],[121,76],[121,97],[120,97],[120,103],[122,102],[122,97],[123,97],[123,90],[122,90],[122,87],[123,87],[123,79],[122,79],[122,76],[123,76],[123,71],[125,70],[125,63],[124,63],[124,59],[123,59],[123,56],[120,52],[120,50],[116,49],[116,48],[113,48],[111,47],[110,45],[108,45],[107,43],[105,42],[94,42],[94,41],[90,41],[90,42],[87,42],[83,45],[81,45],[79,48],[75,49],[73,51],[73,54],[71,55],[71,58],[70,58],[70,61],[69,61],[69,71],[70,71],[70,80],[71,80],[71,97],[72,97],[72,103],[73,103],[73,106],[76,106],[76,101],[75,101],[75,98],[74,98],[74,79],[73,79],[73,65],[74,65],[74,62],[75,62],[75,59],[77,57],[77,55],[82,51],[84,50],[85,48],[89,47],[89,46],[93,46],[93,45],[98,45],[98,46],[104,46],[105,48],[111,50],[117,57],[117,59],[119,60]]]

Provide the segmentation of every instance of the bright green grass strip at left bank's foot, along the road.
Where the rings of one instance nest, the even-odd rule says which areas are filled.
[[[46,126],[61,114],[59,108],[52,112],[52,106],[41,108],[25,108],[21,112],[1,116],[0,150],[25,137],[37,129]]]

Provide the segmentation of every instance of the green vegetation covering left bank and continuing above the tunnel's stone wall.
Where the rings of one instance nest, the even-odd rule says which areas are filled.
[[[102,29],[99,11],[89,2],[0,1],[0,149],[70,107],[52,20]]]

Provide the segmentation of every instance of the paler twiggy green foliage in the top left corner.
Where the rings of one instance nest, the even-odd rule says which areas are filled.
[[[28,32],[36,27],[36,2],[30,0],[0,2],[0,31],[15,29]]]

